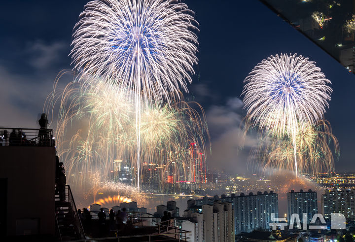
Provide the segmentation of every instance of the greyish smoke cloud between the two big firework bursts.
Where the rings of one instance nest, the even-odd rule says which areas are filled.
[[[208,157],[211,168],[227,173],[247,172],[249,151],[257,140],[244,134],[243,105],[242,100],[234,97],[229,98],[225,105],[213,105],[207,111],[212,138],[212,155]]]

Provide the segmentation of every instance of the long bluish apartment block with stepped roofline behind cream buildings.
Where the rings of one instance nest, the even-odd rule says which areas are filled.
[[[278,195],[272,191],[249,193],[240,196],[232,194],[230,197],[222,195],[220,198],[204,197],[199,200],[187,201],[187,208],[193,211],[203,210],[203,205],[213,205],[214,201],[229,202],[233,209],[234,233],[251,232],[256,228],[269,229],[271,221],[271,213],[275,213],[275,217],[279,214]]]

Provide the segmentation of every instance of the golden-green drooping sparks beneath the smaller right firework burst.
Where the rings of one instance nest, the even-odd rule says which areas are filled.
[[[263,165],[264,172],[266,169],[293,171],[292,138],[287,134],[283,137],[274,136],[270,132],[259,135],[259,145],[252,150],[252,160],[259,161]],[[315,125],[307,124],[298,127],[296,135],[298,171],[313,174],[334,171],[331,144],[334,145],[335,156],[339,157],[338,140],[332,134],[328,121],[321,120]]]

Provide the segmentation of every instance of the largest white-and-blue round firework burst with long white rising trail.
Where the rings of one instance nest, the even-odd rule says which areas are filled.
[[[197,63],[198,23],[187,5],[176,0],[94,0],[79,17],[72,64],[83,74],[100,75],[132,91],[139,173],[141,100],[169,103],[169,93],[178,95],[180,86],[187,91]]]

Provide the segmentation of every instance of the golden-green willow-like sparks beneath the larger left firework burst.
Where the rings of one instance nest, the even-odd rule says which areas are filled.
[[[131,162],[132,184],[137,183],[135,113],[128,96],[128,91],[122,92],[117,85],[80,76],[63,90],[54,90],[48,99],[49,110],[59,104],[58,154],[76,190],[101,187],[114,179],[115,160]],[[188,180],[192,167],[189,144],[196,143],[196,150],[205,153],[205,141],[210,140],[202,107],[183,101],[142,105],[147,106],[140,124],[142,181],[155,177],[154,182],[162,188],[167,185],[167,175],[174,175],[174,182],[179,177]]]

